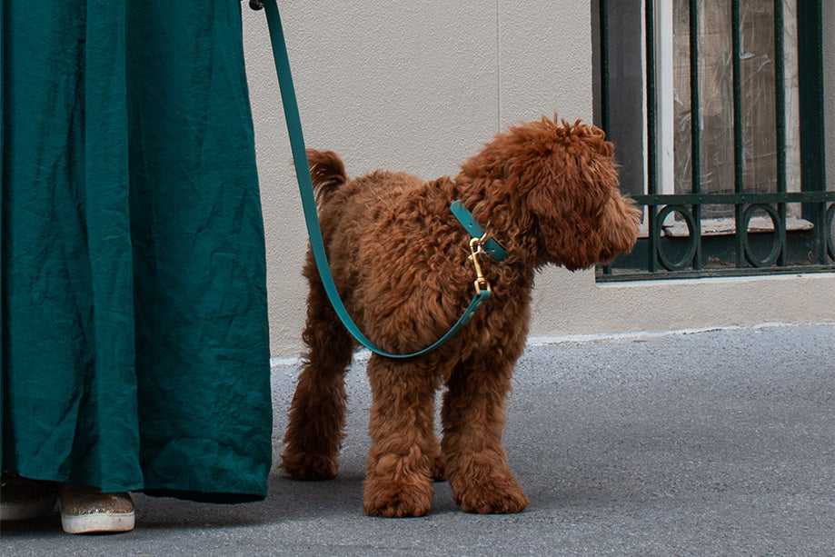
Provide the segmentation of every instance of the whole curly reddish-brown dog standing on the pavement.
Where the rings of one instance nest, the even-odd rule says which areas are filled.
[[[496,135],[454,178],[377,171],[349,180],[342,160],[308,153],[334,280],[353,321],[390,353],[437,340],[472,298],[470,234],[450,211],[461,200],[507,251],[482,257],[492,297],[432,353],[368,362],[373,403],[367,514],[422,516],[445,477],[465,512],[520,512],[528,498],[502,448],[504,402],[525,345],[534,271],[582,269],[629,252],[639,212],[618,190],[600,129],[542,121]],[[345,423],[344,373],[355,344],[328,302],[311,254],[304,342],[281,466],[292,478],[333,478]],[[442,441],[436,391],[446,386]]]

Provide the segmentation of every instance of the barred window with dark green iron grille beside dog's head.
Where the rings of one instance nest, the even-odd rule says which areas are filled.
[[[833,271],[820,0],[593,0],[595,120],[643,206],[601,281]]]

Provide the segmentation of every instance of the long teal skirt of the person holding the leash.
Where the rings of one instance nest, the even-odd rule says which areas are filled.
[[[263,498],[263,222],[236,0],[2,23],[3,469]]]

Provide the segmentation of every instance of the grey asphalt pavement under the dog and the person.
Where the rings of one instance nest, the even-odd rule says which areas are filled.
[[[337,479],[278,472],[264,502],[134,496],[136,529],[73,536],[52,512],[0,527],[13,555],[835,555],[835,322],[538,340],[504,441],[531,499],[416,519],[363,515],[370,393],[348,374]],[[273,364],[274,448],[298,364]]]

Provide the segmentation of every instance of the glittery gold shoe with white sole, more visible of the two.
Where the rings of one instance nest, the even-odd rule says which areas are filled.
[[[61,486],[61,526],[67,533],[130,532],[134,502],[128,493],[103,493],[79,483]]]

